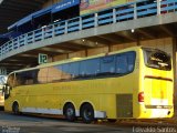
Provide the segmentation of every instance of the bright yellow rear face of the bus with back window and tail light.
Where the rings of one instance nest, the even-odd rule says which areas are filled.
[[[170,57],[159,50],[145,50],[144,92],[139,101],[152,109],[152,117],[164,117],[173,105],[173,74]],[[140,100],[142,99],[142,100]]]

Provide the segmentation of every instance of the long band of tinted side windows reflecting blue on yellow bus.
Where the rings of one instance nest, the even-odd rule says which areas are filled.
[[[15,85],[27,85],[34,83],[49,83],[72,80],[76,78],[104,78],[127,74],[134,70],[135,52],[117,53],[96,59],[59,64],[49,68],[41,68],[27,72],[19,72],[9,76],[9,82],[14,81]],[[11,80],[10,80],[11,79]]]

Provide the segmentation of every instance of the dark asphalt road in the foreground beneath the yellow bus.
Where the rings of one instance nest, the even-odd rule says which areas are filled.
[[[37,115],[13,115],[0,111],[0,133],[177,133],[171,123],[71,123],[64,119]]]

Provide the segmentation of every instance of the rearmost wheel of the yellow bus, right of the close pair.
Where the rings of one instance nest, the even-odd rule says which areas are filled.
[[[81,116],[84,123],[91,123],[94,121],[94,110],[91,104],[84,104],[81,109]]]

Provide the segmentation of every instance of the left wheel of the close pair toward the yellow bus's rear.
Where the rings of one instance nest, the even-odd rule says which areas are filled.
[[[69,122],[75,121],[75,109],[73,104],[66,104],[64,106],[64,115]]]

